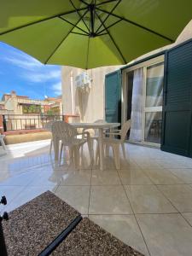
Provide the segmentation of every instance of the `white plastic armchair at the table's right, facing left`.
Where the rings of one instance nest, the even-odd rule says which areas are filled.
[[[109,137],[103,138],[103,145],[106,148],[106,153],[108,152],[109,147],[113,148],[113,158],[114,158],[115,166],[117,169],[120,168],[119,145],[121,145],[121,148],[125,157],[125,137],[126,137],[127,131],[129,131],[130,128],[131,128],[131,119],[125,122],[121,130],[113,130],[113,132],[105,132],[105,134],[108,134]],[[118,139],[118,138],[115,138],[114,136],[119,136],[120,138]],[[99,156],[99,147],[97,144],[96,159],[98,158],[98,156]]]

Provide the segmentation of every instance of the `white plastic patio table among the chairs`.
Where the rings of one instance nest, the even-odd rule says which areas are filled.
[[[103,130],[104,129],[112,129],[118,127],[119,123],[72,123],[75,128],[83,128],[83,129],[97,129],[99,131],[98,142],[99,142],[99,156],[100,156],[100,170],[104,169],[104,150],[103,150]]]

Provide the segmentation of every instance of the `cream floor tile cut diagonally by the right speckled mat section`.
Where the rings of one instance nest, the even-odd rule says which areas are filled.
[[[140,253],[149,255],[134,215],[90,215],[89,218]]]

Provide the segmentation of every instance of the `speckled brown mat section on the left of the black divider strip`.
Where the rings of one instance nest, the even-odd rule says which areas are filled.
[[[78,216],[79,212],[50,191],[39,195],[3,221],[8,255],[38,255]]]

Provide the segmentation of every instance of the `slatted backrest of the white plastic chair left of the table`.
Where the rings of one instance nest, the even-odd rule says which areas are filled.
[[[56,121],[52,125],[53,139],[60,139],[64,145],[71,144],[76,135],[77,130],[73,125],[69,125],[64,121]]]

